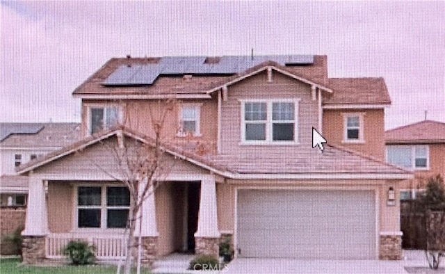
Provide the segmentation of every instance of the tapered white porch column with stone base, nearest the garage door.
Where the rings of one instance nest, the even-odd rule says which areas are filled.
[[[216,183],[213,177],[201,180],[200,211],[195,233],[195,252],[218,256],[220,232],[218,230],[218,211],[216,203]]]

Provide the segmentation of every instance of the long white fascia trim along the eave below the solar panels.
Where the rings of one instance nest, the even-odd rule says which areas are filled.
[[[107,94],[107,95],[98,95],[98,94],[74,94],[74,98],[79,99],[108,99],[108,100],[115,100],[115,99],[211,99],[211,96],[209,94],[185,94],[185,93],[174,93],[174,94],[167,94],[167,95],[113,95],[113,94]]]

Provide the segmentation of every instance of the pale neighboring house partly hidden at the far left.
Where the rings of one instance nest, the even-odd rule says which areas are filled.
[[[28,179],[15,176],[15,168],[79,137],[79,123],[0,123],[1,206],[26,206]]]

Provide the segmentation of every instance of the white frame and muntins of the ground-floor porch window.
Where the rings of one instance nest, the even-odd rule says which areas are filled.
[[[95,205],[95,206],[80,206],[80,209],[100,209],[100,221],[99,221],[99,227],[79,227],[79,188],[81,187],[99,187],[101,188],[101,204]],[[97,232],[100,231],[119,231],[122,232],[125,230],[124,227],[108,227],[108,209],[130,209],[131,205],[131,196],[130,196],[130,204],[128,206],[108,206],[107,205],[107,195],[106,190],[109,187],[123,187],[126,186],[122,184],[76,184],[74,186],[73,191],[73,199],[74,199],[74,207],[73,207],[73,218],[72,218],[72,229],[73,231],[79,231],[79,232],[88,232],[93,231]]]

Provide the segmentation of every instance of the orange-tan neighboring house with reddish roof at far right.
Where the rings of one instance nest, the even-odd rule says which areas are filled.
[[[425,120],[385,132],[387,162],[414,171],[401,184],[401,200],[425,191],[428,179],[445,178],[445,123]]]

